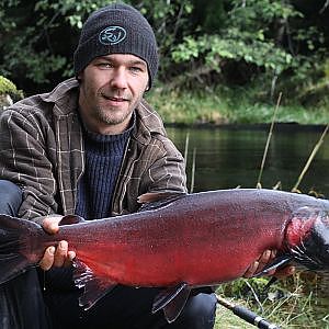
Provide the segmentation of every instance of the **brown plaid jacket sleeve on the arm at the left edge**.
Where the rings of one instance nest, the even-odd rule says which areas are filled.
[[[54,145],[54,133],[42,113],[22,106],[1,115],[0,178],[22,189],[19,217],[32,219],[58,211]]]

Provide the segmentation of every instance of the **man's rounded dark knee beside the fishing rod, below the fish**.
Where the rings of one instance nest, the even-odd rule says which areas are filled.
[[[189,298],[172,328],[212,329],[215,325],[217,299],[214,294],[197,294]]]

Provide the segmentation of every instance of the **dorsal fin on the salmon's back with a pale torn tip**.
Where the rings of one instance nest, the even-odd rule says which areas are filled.
[[[159,192],[159,193],[145,193],[138,196],[137,202],[143,203],[139,211],[154,211],[163,207],[181,197],[186,196],[185,193],[174,192]]]

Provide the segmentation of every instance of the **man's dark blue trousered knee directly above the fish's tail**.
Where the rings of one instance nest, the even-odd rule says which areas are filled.
[[[0,214],[16,216],[22,203],[22,190],[14,183],[0,180]]]

